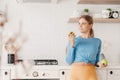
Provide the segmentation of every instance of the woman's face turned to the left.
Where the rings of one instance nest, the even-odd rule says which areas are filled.
[[[87,33],[91,30],[92,24],[89,24],[87,20],[81,18],[79,20],[79,30],[81,33]]]

